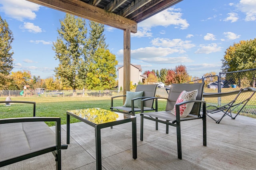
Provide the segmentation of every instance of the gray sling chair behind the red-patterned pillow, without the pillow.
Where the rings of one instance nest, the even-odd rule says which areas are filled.
[[[177,103],[176,101],[180,96],[182,91],[194,91],[198,90],[198,94],[196,96],[196,100],[183,101],[181,103]],[[194,83],[194,84],[172,84],[170,89],[170,93],[168,95],[167,104],[165,111],[158,111],[158,99],[166,99],[162,97],[154,97],[151,99],[155,99],[156,101],[156,111],[155,112],[146,112],[141,110],[141,124],[140,124],[140,140],[143,140],[143,121],[144,119],[148,119],[151,121],[156,121],[156,130],[158,130],[158,122],[166,124],[166,134],[168,134],[169,125],[176,127],[177,132],[177,145],[178,145],[178,158],[182,159],[182,150],[181,150],[181,130],[180,123],[182,121],[189,121],[194,119],[202,119],[203,125],[203,145],[206,146],[206,102],[202,101],[204,83]],[[151,99],[143,99],[141,101],[141,105],[143,106],[143,102]],[[180,106],[186,103],[194,103],[192,110],[190,111],[187,117],[180,117]],[[202,115],[200,114],[201,104],[202,107]],[[171,113],[171,110],[176,108],[176,115]],[[143,108],[143,107],[142,107]]]

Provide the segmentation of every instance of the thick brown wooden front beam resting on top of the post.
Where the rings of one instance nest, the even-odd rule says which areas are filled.
[[[137,22],[119,16],[117,14],[108,12],[96,6],[89,5],[80,0],[27,0],[66,12],[68,14],[76,15],[82,18],[86,18],[91,21],[95,21],[101,24],[105,24],[121,30],[130,30],[132,33],[137,32]]]

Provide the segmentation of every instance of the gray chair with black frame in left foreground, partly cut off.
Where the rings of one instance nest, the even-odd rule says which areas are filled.
[[[8,102],[33,104],[33,117],[0,119],[0,167],[52,152],[56,170],[61,170],[61,149],[67,149],[68,145],[61,145],[60,118],[35,117],[35,102]],[[45,121],[55,122],[55,133],[44,123]]]

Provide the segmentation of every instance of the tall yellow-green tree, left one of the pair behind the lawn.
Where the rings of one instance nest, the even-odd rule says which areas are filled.
[[[55,67],[56,77],[66,87],[76,88],[82,85],[84,79],[84,49],[86,48],[86,21],[82,18],[66,14],[64,20],[60,20],[61,28],[58,29],[60,37],[53,42],[55,59],[59,60]]]

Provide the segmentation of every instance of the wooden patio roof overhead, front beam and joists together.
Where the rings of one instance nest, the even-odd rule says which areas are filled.
[[[137,23],[182,0],[28,0],[122,30],[137,32]]]

